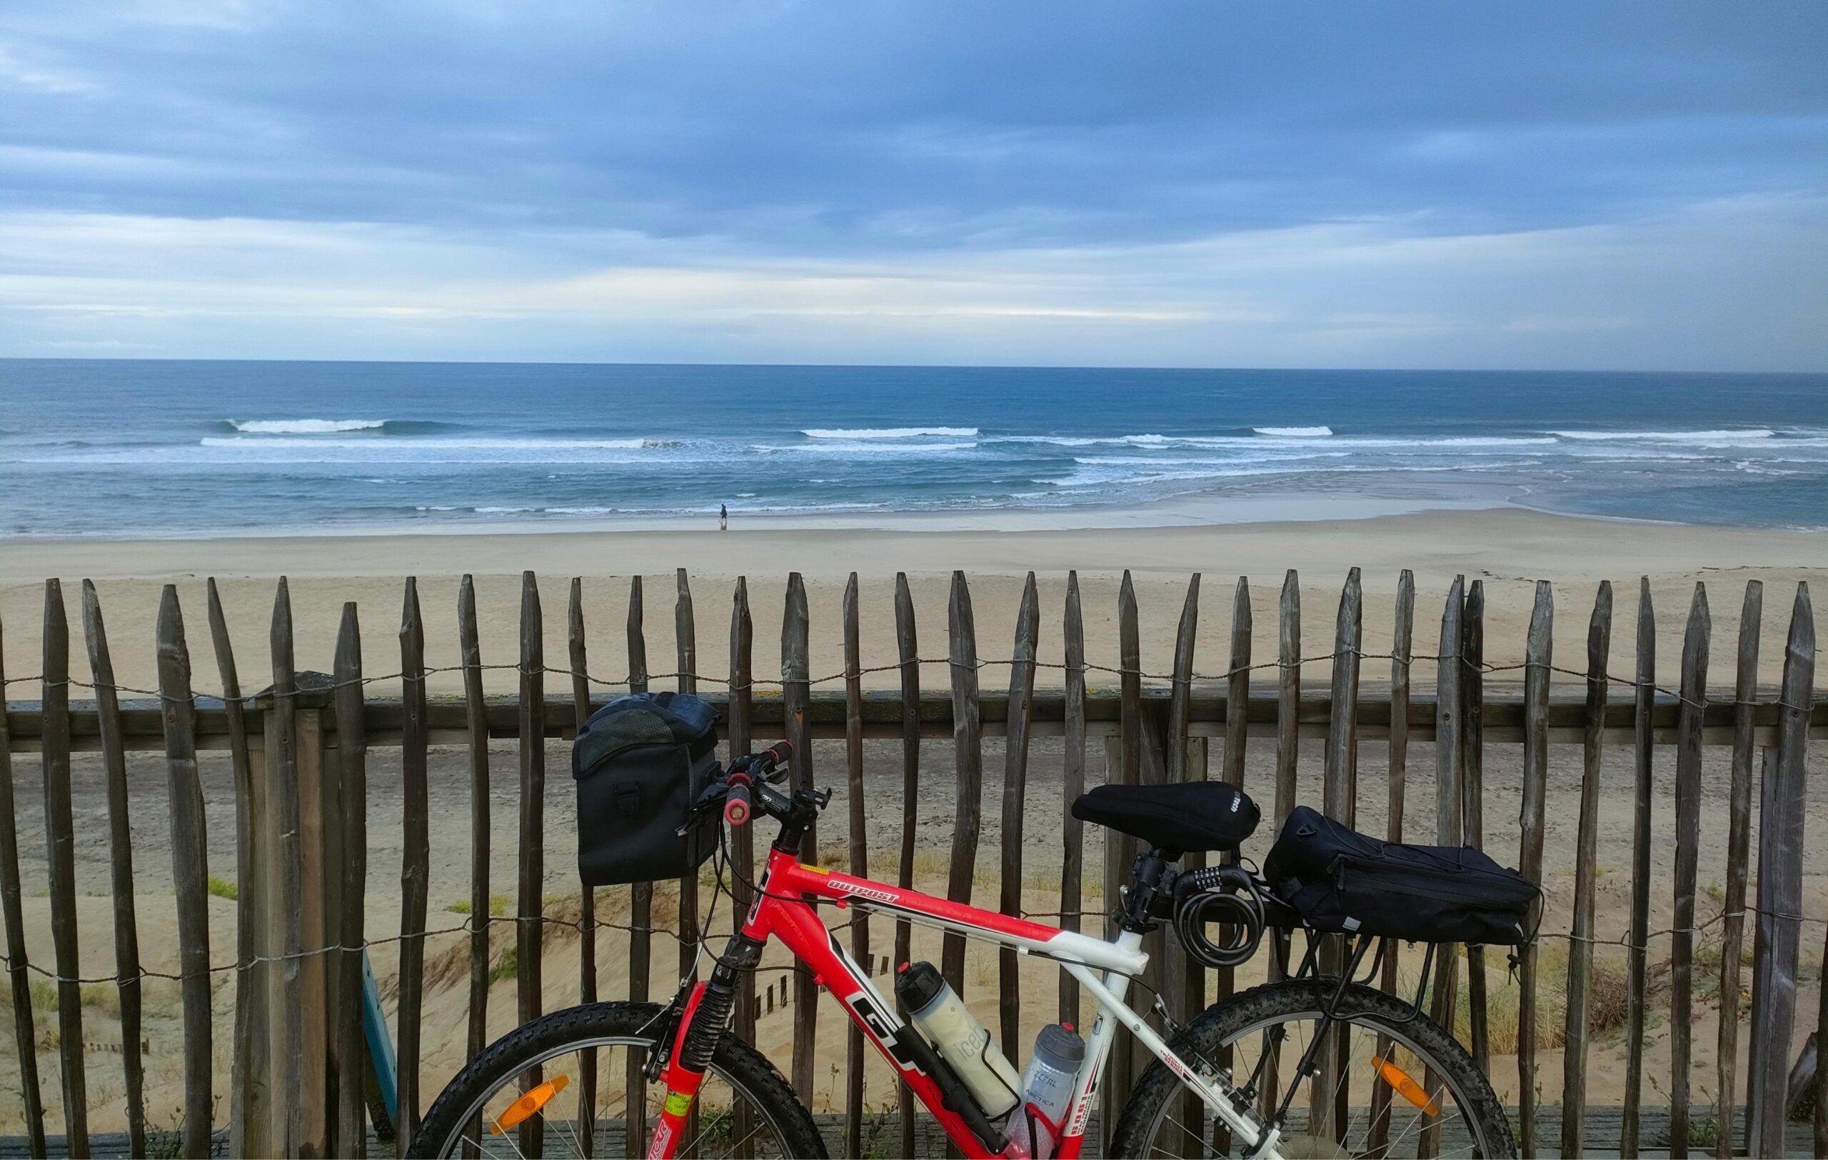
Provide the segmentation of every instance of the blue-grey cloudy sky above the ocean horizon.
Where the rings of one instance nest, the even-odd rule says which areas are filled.
[[[1824,60],[1819,0],[7,0],[0,355],[1819,371]]]

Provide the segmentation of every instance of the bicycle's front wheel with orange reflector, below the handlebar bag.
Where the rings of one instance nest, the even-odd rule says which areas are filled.
[[[497,1039],[457,1072],[409,1156],[642,1156],[665,1090],[642,1081],[660,1008],[590,1003]],[[680,1156],[823,1158],[812,1114],[781,1072],[726,1034],[698,1089]]]

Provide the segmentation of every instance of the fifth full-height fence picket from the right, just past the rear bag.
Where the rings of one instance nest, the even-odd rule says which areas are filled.
[[[1587,1026],[1594,964],[1594,878],[1600,843],[1600,721],[1607,706],[1612,646],[1612,584],[1600,582],[1587,624],[1587,745],[1581,750],[1581,820],[1574,854],[1574,931],[1568,940],[1568,1014],[1561,1079],[1561,1151],[1578,1153],[1587,1116]]]

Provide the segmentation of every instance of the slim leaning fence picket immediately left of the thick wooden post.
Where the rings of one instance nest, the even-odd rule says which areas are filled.
[[[260,955],[260,931],[265,924],[260,902],[260,875],[256,873],[254,842],[254,759],[249,748],[247,706],[241,703],[241,677],[234,662],[234,642],[228,639],[228,618],[223,615],[216,578],[207,584],[210,642],[216,651],[216,671],[223,684],[223,717],[228,725],[228,767],[234,772],[234,880],[236,880],[236,964],[234,973],[234,1039],[228,1065],[228,1151],[238,1156],[260,1155],[267,1147],[263,1083],[265,1070],[256,1063],[267,1052],[267,1004],[258,999],[261,979],[254,966]],[[265,761],[261,776],[265,776]],[[254,1133],[252,1136],[249,1133]]]

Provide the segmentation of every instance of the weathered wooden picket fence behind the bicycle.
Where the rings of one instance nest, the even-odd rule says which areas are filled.
[[[22,1100],[26,1105],[27,1149],[49,1149],[40,1100],[37,1030],[27,986],[31,975],[51,979],[58,990],[57,1030],[64,1045],[58,1052],[64,1114],[64,1147],[86,1155],[86,1074],[82,1004],[79,988],[97,981],[115,983],[121,997],[121,1067],[128,1145],[133,1155],[146,1151],[146,1109],[143,1100],[143,1034],[139,981],[165,977],[183,992],[185,1026],[185,1155],[208,1155],[221,1144],[214,1123],[210,981],[218,972],[234,972],[236,1012],[230,1045],[232,1076],[228,1100],[228,1138],[232,1155],[358,1155],[366,1138],[362,1100],[362,1037],[355,1017],[360,1003],[362,950],[375,942],[399,944],[399,1008],[395,1037],[399,1045],[399,1092],[404,1131],[435,1092],[420,1087],[420,1014],[424,940],[428,908],[428,750],[435,745],[466,746],[472,789],[472,882],[468,951],[468,1050],[484,1047],[488,1003],[488,929],[492,922],[512,922],[517,939],[517,1017],[541,1014],[543,928],[561,922],[545,913],[543,880],[543,800],[547,781],[547,745],[570,737],[592,708],[627,690],[647,690],[651,682],[700,692],[718,704],[729,752],[746,752],[751,739],[786,736],[793,741],[792,781],[808,785],[813,778],[813,741],[843,739],[848,779],[848,862],[854,873],[868,871],[865,825],[863,756],[866,737],[899,737],[903,756],[903,827],[899,843],[899,880],[914,875],[916,803],[919,800],[921,739],[954,739],[958,787],[952,831],[949,895],[969,898],[978,860],[983,818],[983,737],[1000,734],[1004,743],[1002,794],[1002,889],[998,904],[1005,913],[1020,913],[1024,882],[1026,779],[1031,739],[1064,737],[1064,796],[1071,801],[1086,785],[1088,743],[1108,746],[1110,778],[1124,783],[1157,783],[1216,774],[1234,785],[1243,783],[1245,743],[1250,736],[1274,739],[1276,774],[1272,820],[1296,803],[1298,743],[1303,736],[1323,737],[1323,807],[1329,814],[1353,822],[1358,801],[1358,748],[1364,741],[1387,745],[1387,794],[1391,840],[1404,838],[1408,746],[1411,741],[1435,743],[1435,827],[1433,834],[1411,838],[1466,842],[1481,845],[1484,827],[1484,754],[1493,745],[1521,745],[1523,818],[1517,864],[1532,878],[1543,875],[1545,800],[1550,743],[1581,746],[1579,838],[1574,878],[1572,929],[1545,931],[1568,940],[1567,1026],[1563,1103],[1537,1107],[1536,1028],[1539,1023],[1539,953],[1521,953],[1521,1010],[1517,1058],[1525,1081],[1519,1083],[1517,1123],[1525,1155],[1556,1147],[1541,1136],[1543,1125],[1559,1122],[1563,1155],[1576,1155],[1587,1136],[1587,1059],[1589,986],[1592,979],[1594,886],[1598,876],[1600,759],[1607,746],[1629,745],[1634,754],[1636,818],[1631,860],[1631,933],[1629,1014],[1625,1101],[1618,1116],[1618,1138],[1607,1142],[1623,1155],[1643,1144],[1643,1026],[1647,994],[1647,944],[1653,937],[1671,940],[1671,1047],[1673,1089],[1667,1092],[1673,1155],[1685,1155],[1691,1109],[1691,1052],[1695,1010],[1695,913],[1696,853],[1700,832],[1702,750],[1709,745],[1731,746],[1731,818],[1726,898],[1718,918],[1724,951],[1720,955],[1720,994],[1740,994],[1740,948],[1746,917],[1753,917],[1755,957],[1751,966],[1751,1052],[1740,1085],[1735,1030],[1738,1008],[1726,1004],[1720,1021],[1715,1092],[1722,1096],[1718,1155],[1749,1147],[1753,1155],[1782,1149],[1784,1087],[1790,1074],[1790,1045],[1797,1028],[1797,968],[1802,917],[1802,838],[1806,794],[1806,746],[1813,732],[1828,728],[1828,703],[1813,695],[1815,629],[1808,587],[1799,585],[1790,620],[1790,635],[1777,688],[1759,682],[1759,633],[1762,624],[1762,585],[1744,589],[1735,681],[1731,695],[1709,695],[1711,618],[1707,591],[1695,587],[1682,651],[1680,686],[1660,690],[1654,677],[1654,611],[1649,584],[1643,584],[1636,620],[1636,673],[1609,673],[1612,637],[1612,589],[1601,584],[1592,606],[1583,666],[1557,666],[1550,655],[1554,595],[1546,582],[1536,585],[1536,604],[1528,628],[1525,661],[1514,666],[1484,662],[1484,593],[1481,582],[1448,589],[1440,617],[1439,655],[1417,655],[1415,582],[1402,575],[1397,591],[1395,633],[1387,653],[1362,648],[1364,595],[1358,569],[1345,580],[1336,617],[1334,648],[1327,657],[1305,661],[1331,662],[1327,688],[1302,686],[1300,585],[1289,573],[1281,589],[1278,651],[1274,659],[1252,657],[1249,585],[1238,582],[1230,650],[1221,673],[1196,671],[1196,631],[1199,617],[1199,576],[1192,576],[1175,637],[1172,670],[1150,675],[1142,668],[1135,589],[1128,573],[1119,591],[1119,662],[1100,666],[1086,661],[1084,611],[1077,576],[1068,578],[1062,622],[1062,661],[1044,661],[1038,651],[1040,615],[1035,576],[1029,575],[1016,615],[1009,661],[985,662],[978,657],[978,639],[967,578],[952,576],[949,602],[947,651],[943,659],[923,659],[918,651],[914,602],[905,576],[898,578],[894,617],[898,661],[887,670],[899,677],[899,688],[865,690],[859,661],[857,578],[852,575],[843,602],[845,668],[830,677],[813,677],[808,664],[810,620],[806,587],[795,573],[786,582],[779,681],[751,671],[753,626],[749,589],[737,580],[733,589],[728,668],[713,677],[696,651],[695,609],[684,569],[673,593],[675,666],[654,673],[647,661],[642,580],[631,585],[627,611],[629,671],[618,679],[600,679],[589,670],[581,584],[570,582],[567,609],[569,657],[565,666],[548,666],[543,655],[541,593],[532,573],[523,576],[521,650],[512,666],[484,666],[479,648],[475,589],[464,576],[459,591],[461,699],[431,699],[426,692],[424,620],[417,584],[406,580],[404,615],[399,629],[400,666],[378,666],[384,677],[364,664],[364,640],[355,604],[347,604],[329,679],[294,671],[292,617],[285,580],[280,580],[272,609],[271,657],[272,682],[267,692],[249,695],[236,670],[223,606],[214,580],[208,584],[208,635],[219,675],[221,695],[194,688],[192,648],[185,629],[175,585],[168,585],[157,615],[157,690],[117,686],[95,587],[84,584],[82,631],[93,681],[90,701],[71,703],[69,628],[58,582],[46,584],[44,666],[38,675],[0,681],[37,686],[37,703],[13,701],[0,714],[0,909],[5,924],[5,970],[11,984],[13,1019]],[[1371,662],[1373,671],[1362,666]],[[921,686],[923,664],[943,664],[943,690]],[[1387,681],[1376,681],[1387,664]],[[987,668],[1007,670],[1007,690],[980,688]],[[1426,666],[1433,682],[1411,682],[1411,668]],[[519,692],[514,697],[484,695],[486,668],[514,668]],[[1493,671],[1514,670],[1521,690],[1488,692]],[[1040,686],[1036,675],[1049,679]],[[569,688],[548,693],[547,677],[567,677]],[[1088,675],[1110,690],[1088,690]],[[1552,699],[1552,677],[1579,684],[1583,697]],[[1057,677],[1057,681],[1055,681]],[[1267,681],[1263,679],[1267,677]],[[1360,692],[1362,677],[1376,684]],[[400,681],[399,697],[367,697],[375,681]],[[832,688],[824,688],[824,686]],[[779,688],[779,695],[757,690]],[[1614,695],[1614,686],[1629,695]],[[122,699],[126,693],[126,699]],[[135,699],[148,697],[148,699]],[[488,746],[492,739],[519,743],[519,880],[517,911],[490,917],[490,838],[494,822],[488,801]],[[1217,750],[1216,768],[1208,761],[1208,743]],[[1676,875],[1674,924],[1667,931],[1649,929],[1651,897],[1651,809],[1653,754],[1674,746]],[[397,935],[364,929],[364,891],[367,878],[367,781],[369,746],[399,746],[404,781],[404,869],[400,884],[400,931]],[[1762,774],[1755,781],[1755,761],[1762,748]],[[82,977],[77,953],[77,895],[71,814],[71,754],[99,750],[106,774],[108,834],[113,891],[115,973]],[[139,955],[135,926],[135,876],[132,829],[128,820],[126,754],[163,750],[166,757],[172,871],[177,893],[179,970],[159,975],[148,972]],[[197,776],[199,750],[227,750],[236,790],[236,961],[210,962],[205,856],[203,790]],[[27,961],[22,920],[22,875],[13,803],[13,754],[37,752],[44,778],[44,809],[49,849],[49,911],[53,964]],[[1751,865],[1753,789],[1760,790],[1760,840],[1757,851],[1757,898],[1748,900]],[[84,834],[101,842],[101,836]],[[1111,840],[1104,854],[1104,898],[1115,898],[1117,884],[1133,858],[1133,840]],[[817,834],[808,836],[817,849]],[[1501,860],[1512,862],[1506,849]],[[744,906],[742,880],[753,876],[753,836],[735,832],[733,858],[739,875],[737,906]],[[1069,816],[1062,820],[1062,876],[1058,891],[1060,922],[1080,928],[1084,832]],[[698,939],[700,900],[696,876],[680,882],[680,918],[676,931],[653,924],[653,887],[632,887],[629,924],[596,918],[598,908],[583,891],[581,920],[574,926],[581,950],[578,995],[598,997],[598,931],[627,933],[631,970],[625,995],[664,999],[649,979],[649,942],[654,933],[680,940],[680,964],[689,966]],[[1051,911],[1053,913],[1053,911]],[[1097,911],[1102,913],[1102,911]],[[1095,913],[1095,915],[1097,915]],[[1819,920],[1817,920],[1819,922]],[[1108,926],[1106,926],[1108,929]],[[866,922],[848,924],[852,950],[859,961],[872,953]],[[896,924],[892,961],[909,955],[907,924]],[[877,955],[883,948],[877,948]],[[1163,935],[1153,935],[1146,983],[1168,999],[1170,1014],[1183,1017],[1205,1006],[1208,979],[1177,953],[1164,950]],[[1479,968],[1479,948],[1468,953],[1466,988],[1472,1010],[1472,1050],[1486,1063],[1486,975]],[[1437,1017],[1450,1015],[1457,988],[1457,957],[1440,955],[1435,986]],[[943,946],[943,972],[963,986],[963,940],[949,935]],[[1016,1045],[1024,995],[1018,986],[1016,955],[1004,951],[998,962],[998,1028],[1005,1045]],[[1395,955],[1386,961],[1384,984],[1395,988]],[[665,983],[662,983],[665,986]],[[1216,979],[1219,995],[1232,988],[1230,972]],[[609,995],[605,995],[609,997]],[[768,994],[770,1004],[773,994]],[[1031,999],[1033,1001],[1033,999]],[[806,972],[793,983],[793,1047],[790,1076],[797,1090],[812,1092],[815,1043],[815,984]],[[318,1017],[325,1012],[327,1017]],[[1079,994],[1062,979],[1058,1012],[1073,1019]],[[753,979],[739,1003],[737,1034],[753,1034],[757,997]],[[1828,990],[1815,1019],[1828,1028]],[[1828,1041],[1828,1039],[1824,1039]],[[110,1048],[112,1050],[112,1048]],[[863,1043],[854,1032],[846,1043],[846,1100],[843,1142],[846,1155],[857,1155],[863,1120]],[[1137,1078],[1137,1058],[1121,1050],[1106,1079],[1104,1107],[1121,1107]],[[1828,1069],[1823,1069],[1828,1076]],[[1819,1078],[1821,1083],[1821,1078]],[[1744,1090],[1744,1133],[1733,1131],[1735,1096]],[[1821,1087],[1817,1089],[1821,1090]],[[1817,1101],[1828,1109],[1828,1100]],[[1106,1114],[1110,1123],[1113,1116]],[[1607,1116],[1610,1123],[1610,1116]],[[901,1092],[901,1147],[914,1151],[914,1120],[907,1092]],[[1828,1114],[1817,1112],[1815,1155],[1828,1155]]]

